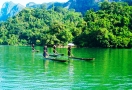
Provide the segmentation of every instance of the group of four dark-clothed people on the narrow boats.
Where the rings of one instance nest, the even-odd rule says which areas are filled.
[[[34,44],[32,44],[32,50],[35,50],[35,49],[34,49]],[[53,45],[53,53],[54,53],[54,54],[57,54],[56,45]],[[43,56],[44,56],[45,58],[47,58],[47,57],[49,56],[49,54],[48,54],[48,48],[47,48],[46,45],[43,47]],[[70,56],[71,56],[71,46],[68,45],[68,57],[70,57]]]

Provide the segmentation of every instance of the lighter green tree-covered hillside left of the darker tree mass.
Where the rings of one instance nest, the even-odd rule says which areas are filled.
[[[0,23],[0,44],[65,45],[83,22],[81,13],[55,7],[49,10],[25,8],[7,22]],[[80,32],[80,31],[79,31]]]

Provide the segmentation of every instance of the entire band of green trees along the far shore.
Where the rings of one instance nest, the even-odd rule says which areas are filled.
[[[100,10],[88,10],[84,17],[61,7],[26,8],[0,23],[0,44],[51,46],[69,42],[80,47],[132,47],[132,7],[106,1],[100,3]]]

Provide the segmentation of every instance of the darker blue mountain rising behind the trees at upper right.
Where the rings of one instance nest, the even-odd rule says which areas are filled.
[[[127,2],[132,4],[132,0],[69,0],[64,4],[64,7],[75,9],[77,12],[85,13],[89,9],[98,10],[99,3],[103,1],[108,2]]]

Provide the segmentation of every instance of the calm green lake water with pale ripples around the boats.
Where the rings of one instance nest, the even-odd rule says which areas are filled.
[[[35,48],[40,52],[28,46],[0,46],[1,90],[132,89],[132,49],[73,48],[74,56],[96,59],[60,63],[44,60],[42,47]],[[64,48],[57,51],[67,54]]]

